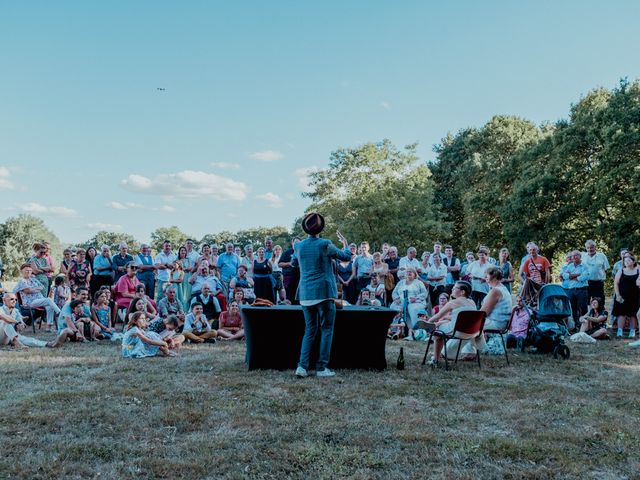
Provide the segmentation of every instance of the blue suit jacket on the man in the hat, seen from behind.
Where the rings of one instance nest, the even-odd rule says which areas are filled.
[[[340,250],[330,240],[308,237],[296,245],[292,266],[300,266],[298,300],[337,298],[336,276],[331,260],[351,260],[349,248]]]

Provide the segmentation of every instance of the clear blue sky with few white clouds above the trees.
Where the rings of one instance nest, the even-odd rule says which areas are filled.
[[[65,243],[290,226],[332,151],[640,77],[637,1],[0,0],[0,222]]]

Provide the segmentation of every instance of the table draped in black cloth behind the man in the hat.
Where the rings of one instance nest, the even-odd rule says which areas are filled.
[[[249,370],[296,368],[304,336],[300,306],[241,308]],[[387,331],[396,312],[382,307],[337,309],[329,368],[384,370]],[[315,367],[320,329],[311,355]]]

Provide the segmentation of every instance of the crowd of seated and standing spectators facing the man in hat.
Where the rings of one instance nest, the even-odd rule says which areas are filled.
[[[254,251],[253,245],[196,248],[191,239],[179,246],[167,240],[155,256],[147,244],[136,253],[125,243],[115,253],[108,245],[67,248],[57,265],[49,245],[36,243],[20,267],[15,288],[2,296],[0,344],[56,347],[67,341],[109,339],[122,342],[125,357],[141,357],[174,355],[184,342],[242,339],[243,305],[298,303],[300,272],[292,260],[299,241],[294,238],[283,248],[267,237]],[[496,328],[513,316],[515,328],[540,286],[553,281],[551,262],[534,242],[527,245],[518,268],[506,248],[497,258],[486,246],[458,257],[451,245],[438,242],[420,257],[415,247],[400,256],[397,247],[386,243],[371,253],[366,241],[350,244],[349,250],[350,259],[334,260],[338,295],[347,304],[396,310],[392,338],[413,338],[421,322],[451,329],[463,308],[485,310],[488,325]],[[567,255],[558,272],[572,305],[571,329],[598,339],[610,335],[608,328],[618,337],[625,332],[635,337],[640,276],[628,249],[611,269],[606,255],[589,240],[584,251]],[[611,316],[604,308],[610,274]],[[521,288],[514,306],[515,282]],[[42,317],[56,338],[44,342],[24,335],[25,313]],[[482,346],[470,350],[473,347]],[[438,357],[436,348],[433,361]]]

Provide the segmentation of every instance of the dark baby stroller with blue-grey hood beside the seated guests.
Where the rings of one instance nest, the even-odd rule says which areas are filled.
[[[568,359],[571,355],[564,339],[569,335],[567,320],[571,318],[571,302],[560,285],[543,285],[529,305],[531,319],[527,344],[535,348],[536,353],[553,353]]]

